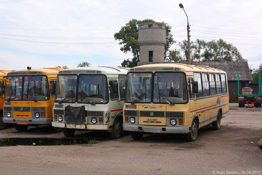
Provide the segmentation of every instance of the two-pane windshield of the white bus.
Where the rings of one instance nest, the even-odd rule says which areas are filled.
[[[107,103],[107,94],[104,75],[59,75],[55,102]]]

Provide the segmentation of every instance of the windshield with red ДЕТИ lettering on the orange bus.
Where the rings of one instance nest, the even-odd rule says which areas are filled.
[[[7,77],[5,100],[49,99],[46,76]]]

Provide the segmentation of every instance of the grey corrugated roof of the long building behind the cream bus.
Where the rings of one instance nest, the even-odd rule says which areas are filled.
[[[168,63],[181,63],[187,64],[188,62],[138,62],[137,66],[148,64],[168,64]],[[239,80],[251,81],[252,76],[248,66],[248,62],[244,61],[203,61],[203,62],[191,62],[195,66],[209,66],[212,68],[220,69],[227,73],[228,81],[237,81],[238,73]]]

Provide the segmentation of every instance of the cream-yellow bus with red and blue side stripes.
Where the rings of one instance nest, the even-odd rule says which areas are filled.
[[[208,66],[151,64],[127,74],[123,130],[143,134],[180,133],[195,141],[198,129],[220,128],[228,111],[226,72]]]

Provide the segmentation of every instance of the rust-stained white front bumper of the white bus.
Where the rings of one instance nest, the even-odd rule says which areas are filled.
[[[109,131],[109,125],[77,125],[77,124],[67,124],[67,123],[59,123],[52,121],[52,126],[56,128],[73,128],[73,129],[86,129],[86,130],[103,130]]]

